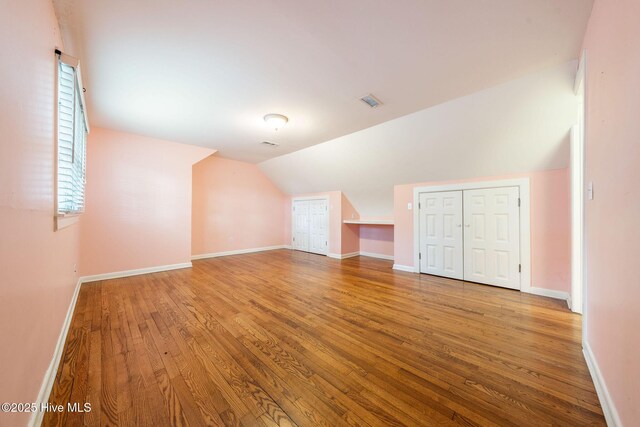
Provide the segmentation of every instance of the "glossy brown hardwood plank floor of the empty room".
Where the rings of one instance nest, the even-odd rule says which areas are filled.
[[[44,425],[604,425],[562,301],[288,250],[85,284]]]

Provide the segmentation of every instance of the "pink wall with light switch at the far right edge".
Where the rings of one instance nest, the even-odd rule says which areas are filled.
[[[587,27],[586,322],[622,424],[640,420],[640,2],[596,0]]]

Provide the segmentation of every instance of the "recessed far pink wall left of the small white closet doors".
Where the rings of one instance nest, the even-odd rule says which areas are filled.
[[[288,199],[254,164],[217,156],[196,163],[193,255],[289,245]]]

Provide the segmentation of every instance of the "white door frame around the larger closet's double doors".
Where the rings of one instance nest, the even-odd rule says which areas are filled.
[[[413,189],[413,271],[420,273],[420,212],[416,207],[420,193],[440,191],[479,190],[485,188],[519,187],[520,189],[520,291],[535,293],[531,286],[531,192],[529,178],[498,181],[465,182],[459,184],[429,185]]]

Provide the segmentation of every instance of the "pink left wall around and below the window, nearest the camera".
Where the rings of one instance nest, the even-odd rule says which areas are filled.
[[[78,277],[78,226],[54,231],[55,55],[49,1],[0,14],[0,402],[33,402]],[[0,425],[29,414],[0,412]]]

